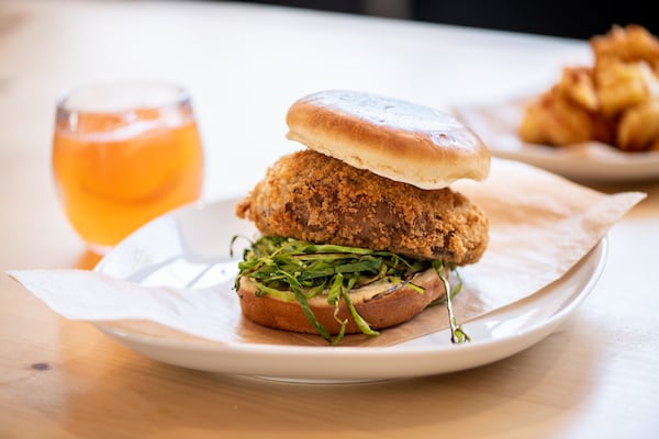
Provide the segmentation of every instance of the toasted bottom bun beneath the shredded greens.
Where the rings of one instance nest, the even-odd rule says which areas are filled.
[[[448,275],[447,268],[447,279]],[[350,301],[372,329],[382,329],[410,320],[432,302],[446,295],[444,282],[435,269],[416,274],[411,282],[425,291],[420,293],[405,284],[381,283],[353,290]],[[297,301],[286,302],[267,294],[257,296],[255,293],[256,286],[247,278],[242,278],[238,296],[243,315],[249,320],[276,329],[317,334]],[[310,299],[309,306],[327,333],[337,335],[340,331],[342,325],[335,318],[336,306],[328,304],[325,295]],[[345,334],[361,333],[345,301],[340,302],[337,316],[342,322],[348,320]]]

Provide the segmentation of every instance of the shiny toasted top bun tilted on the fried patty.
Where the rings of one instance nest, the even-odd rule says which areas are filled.
[[[310,149],[421,189],[484,180],[490,153],[448,113],[399,99],[326,90],[294,102],[287,137]]]

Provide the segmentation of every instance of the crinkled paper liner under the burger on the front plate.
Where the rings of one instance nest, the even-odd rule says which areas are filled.
[[[482,259],[459,268],[463,288],[454,300],[454,311],[460,323],[560,279],[646,196],[640,192],[603,194],[503,159],[492,160],[487,181],[462,180],[453,188],[478,203],[490,219],[490,245]],[[198,288],[146,286],[85,270],[13,270],[8,274],[69,319],[164,338],[326,346],[317,336],[268,329],[243,318],[232,289],[237,266],[232,262],[221,271],[215,284]],[[394,345],[447,327],[445,306],[434,306],[405,324],[383,329],[378,337],[347,336],[339,346]]]

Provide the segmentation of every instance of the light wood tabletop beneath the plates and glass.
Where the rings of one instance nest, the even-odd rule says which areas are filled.
[[[154,78],[190,88],[203,199],[245,193],[280,155],[288,106],[332,88],[439,109],[537,92],[588,43],[245,3],[0,3],[0,438],[659,437],[659,181],[608,232],[574,314],[537,345],[455,373],[286,383],[145,358],[65,319],[4,271],[92,268],[53,182],[56,97]],[[346,367],[350,367],[347,364]]]

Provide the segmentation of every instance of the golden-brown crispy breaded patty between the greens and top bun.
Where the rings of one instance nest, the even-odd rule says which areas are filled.
[[[478,261],[489,236],[480,207],[448,188],[422,190],[312,150],[279,159],[236,214],[266,236],[458,266]]]

